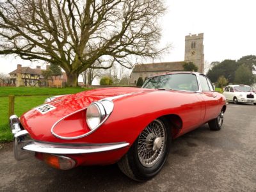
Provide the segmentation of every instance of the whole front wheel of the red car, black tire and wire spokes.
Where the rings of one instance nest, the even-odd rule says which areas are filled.
[[[151,126],[157,124],[163,126],[163,132],[161,132],[162,128],[160,131],[159,128],[157,128],[158,131],[156,131],[156,129],[154,130],[154,127]],[[148,127],[150,127],[150,129],[148,129]],[[153,131],[148,132],[148,130]],[[161,134],[159,132],[161,132]],[[153,138],[153,135],[156,136],[156,138]],[[165,119],[154,120],[145,127],[140,136],[134,141],[127,154],[118,162],[118,167],[127,177],[133,180],[143,182],[151,179],[163,168],[168,156],[171,140],[172,137],[168,122]],[[159,145],[161,145],[161,147],[159,147]],[[150,161],[148,161],[145,156],[147,156],[148,159],[151,157]]]

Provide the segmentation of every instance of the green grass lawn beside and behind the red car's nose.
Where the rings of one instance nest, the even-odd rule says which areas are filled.
[[[14,113],[20,116],[29,109],[44,103],[44,100],[49,96],[78,93],[83,92],[84,90],[86,89],[0,87],[0,143],[12,141],[12,133],[10,131],[8,118],[8,95],[15,95]]]

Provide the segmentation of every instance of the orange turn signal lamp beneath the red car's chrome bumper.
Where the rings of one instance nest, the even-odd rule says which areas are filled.
[[[70,170],[76,166],[76,161],[70,157],[43,154],[43,161],[60,170]]]

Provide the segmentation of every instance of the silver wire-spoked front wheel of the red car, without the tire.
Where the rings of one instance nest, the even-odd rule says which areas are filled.
[[[166,148],[166,129],[163,122],[154,120],[138,138],[138,157],[140,163],[150,168],[162,158]]]

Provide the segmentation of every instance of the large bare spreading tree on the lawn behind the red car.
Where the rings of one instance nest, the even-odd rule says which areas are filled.
[[[59,65],[76,86],[81,72],[99,68],[92,66],[97,60],[105,63],[100,68],[132,68],[134,58],[165,51],[156,48],[163,13],[163,0],[2,1],[0,54]]]

